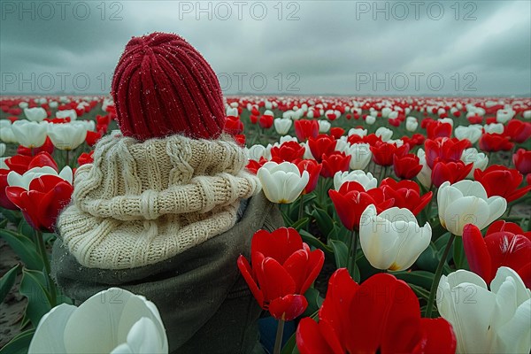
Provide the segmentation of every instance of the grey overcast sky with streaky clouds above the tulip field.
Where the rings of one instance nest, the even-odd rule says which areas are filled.
[[[531,1],[0,3],[2,94],[107,94],[132,36],[182,35],[226,94],[531,95]]]

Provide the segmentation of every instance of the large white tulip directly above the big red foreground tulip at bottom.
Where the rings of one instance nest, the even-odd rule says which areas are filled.
[[[371,204],[361,214],[359,242],[367,260],[377,269],[408,269],[427,249],[432,230],[419,223],[408,209],[393,207],[376,213]]]

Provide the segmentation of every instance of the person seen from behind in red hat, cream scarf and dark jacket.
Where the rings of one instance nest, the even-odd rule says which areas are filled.
[[[178,35],[136,37],[112,97],[121,135],[97,142],[58,218],[59,287],[77,302],[114,286],[146,296],[172,352],[261,352],[261,310],[236,259],[250,258],[251,236],[282,219],[246,172],[242,148],[222,134],[211,66]]]

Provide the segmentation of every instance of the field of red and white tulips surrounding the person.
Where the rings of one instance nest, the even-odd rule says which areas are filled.
[[[137,352],[135,331],[168,352],[150,298],[107,314],[107,289],[76,308],[51,275],[76,169],[120,134],[112,99],[0,109],[0,353]],[[294,324],[274,352],[530,352],[531,98],[227,96],[226,113],[285,225],[234,259],[265,316]],[[118,327],[127,341],[90,337]]]

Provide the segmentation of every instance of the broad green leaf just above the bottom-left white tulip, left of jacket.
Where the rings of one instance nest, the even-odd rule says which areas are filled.
[[[51,310],[46,278],[42,272],[23,269],[20,294],[27,297],[26,315],[37,327],[39,320]]]

